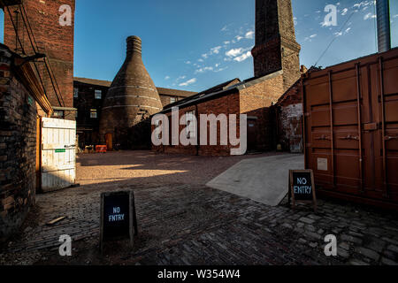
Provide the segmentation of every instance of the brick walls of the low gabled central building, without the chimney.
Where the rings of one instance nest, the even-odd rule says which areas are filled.
[[[188,111],[195,111],[196,119],[198,119],[198,141],[200,141],[200,121],[201,114],[246,114],[248,116],[248,150],[249,151],[266,151],[275,147],[275,113],[273,112],[273,103],[278,101],[279,96],[283,93],[282,88],[283,76],[281,72],[272,73],[260,79],[247,80],[239,82],[234,80],[235,85],[227,84],[229,89],[224,93],[221,92],[219,97],[204,100],[203,102],[193,103],[187,107],[180,106],[180,117]],[[221,88],[222,89],[222,88]],[[203,93],[208,94],[209,90]],[[217,89],[214,90],[217,94]],[[199,94],[200,95],[200,94]],[[194,96],[195,97],[195,96]],[[177,103],[178,106],[178,103]],[[166,112],[170,116],[170,110]],[[239,120],[239,116],[237,117]],[[171,121],[169,119],[169,124]],[[186,126],[180,126],[180,133]],[[155,126],[152,126],[155,129]],[[239,133],[240,124],[238,121],[237,132]],[[208,126],[209,132],[209,126]],[[218,126],[218,145],[200,145],[200,146],[158,146],[153,147],[154,150],[166,153],[184,153],[203,156],[229,156],[231,154],[232,145],[220,145]],[[170,136],[172,132],[170,131]],[[239,135],[238,135],[239,136]],[[209,139],[209,134],[208,134]],[[171,138],[169,139],[171,141]],[[209,142],[208,142],[209,143]]]

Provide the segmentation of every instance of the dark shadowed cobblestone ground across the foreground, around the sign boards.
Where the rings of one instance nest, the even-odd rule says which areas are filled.
[[[205,181],[205,180],[203,180]],[[139,224],[134,249],[110,242],[98,252],[103,191],[133,189]],[[55,226],[45,223],[58,216]],[[61,234],[73,256],[61,257]],[[324,254],[334,234],[338,256]],[[202,184],[149,186],[112,181],[38,195],[37,206],[0,252],[0,264],[398,264],[395,213],[319,201],[269,207]]]

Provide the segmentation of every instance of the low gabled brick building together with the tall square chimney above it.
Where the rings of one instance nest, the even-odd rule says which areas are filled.
[[[275,149],[277,116],[272,106],[278,103],[280,96],[300,78],[302,70],[299,52],[300,45],[295,41],[291,1],[256,0],[256,45],[252,50],[255,76],[244,81],[227,81],[173,103],[161,113],[166,114],[169,119],[172,116],[172,107],[179,107],[180,117],[194,113],[198,120],[196,130],[201,127],[201,114],[247,114],[248,150]],[[238,128],[240,126],[238,123]],[[180,132],[185,127],[180,126]],[[209,124],[206,127],[209,127]],[[179,143],[154,146],[153,150],[195,155],[230,155],[234,146],[230,143],[219,145],[219,131],[218,127],[217,146],[184,146]],[[199,141],[199,138],[196,138]]]

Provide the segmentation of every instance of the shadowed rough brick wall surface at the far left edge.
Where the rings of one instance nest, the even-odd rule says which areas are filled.
[[[35,196],[37,107],[0,50],[0,240],[16,232]]]

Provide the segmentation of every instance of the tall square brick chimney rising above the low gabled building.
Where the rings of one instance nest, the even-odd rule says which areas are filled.
[[[291,0],[256,0],[256,77],[283,70],[286,90],[300,78],[300,45],[295,41]]]

